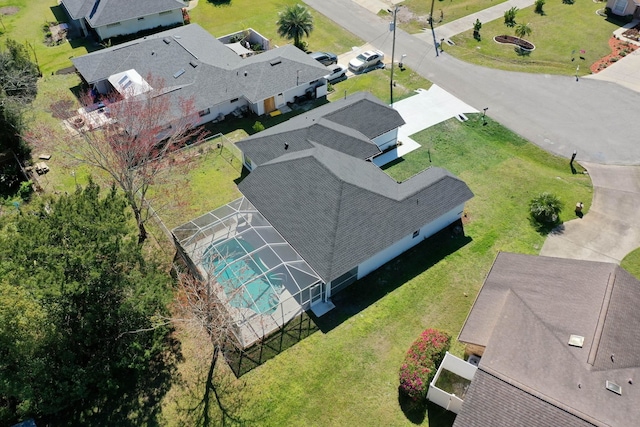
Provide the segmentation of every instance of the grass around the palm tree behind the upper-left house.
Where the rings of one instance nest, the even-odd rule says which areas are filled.
[[[274,45],[283,46],[292,41],[278,35],[276,21],[278,13],[285,7],[300,3],[296,0],[233,0],[229,2],[201,0],[195,9],[189,11],[191,22],[200,24],[216,37],[253,28]],[[311,9],[314,29],[311,35],[302,40],[308,43],[308,49],[330,51],[341,54],[360,46],[364,42],[338,26],[324,15]]]

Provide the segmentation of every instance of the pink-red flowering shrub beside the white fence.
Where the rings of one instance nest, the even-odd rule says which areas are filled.
[[[414,401],[424,400],[429,383],[449,349],[451,336],[427,329],[411,344],[400,367],[400,390]]]

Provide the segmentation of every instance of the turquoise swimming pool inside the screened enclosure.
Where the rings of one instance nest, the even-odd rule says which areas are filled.
[[[277,274],[267,272],[257,254],[249,255],[252,252],[248,242],[231,239],[207,248],[203,265],[213,272],[232,307],[271,314],[278,307],[283,285]]]

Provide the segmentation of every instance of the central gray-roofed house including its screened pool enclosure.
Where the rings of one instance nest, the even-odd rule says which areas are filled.
[[[451,173],[431,167],[396,182],[368,161],[380,153],[374,139],[386,145],[403,123],[392,108],[357,94],[260,132],[238,144],[252,166],[238,185],[243,199],[173,230],[179,253],[201,276],[214,249],[218,259],[231,258],[214,270],[239,323],[252,325],[244,344],[301,310],[323,314],[332,295],[460,220],[473,193]],[[237,263],[246,257],[253,259]],[[299,264],[269,277],[280,268],[276,260]],[[219,267],[226,264],[242,274],[227,280],[232,273]],[[247,289],[242,298],[238,287]],[[264,295],[267,307],[256,309]]]

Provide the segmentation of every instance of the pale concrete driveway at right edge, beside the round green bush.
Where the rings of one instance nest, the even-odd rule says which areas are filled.
[[[593,182],[593,204],[550,234],[540,255],[619,264],[640,247],[640,166],[582,164]]]

